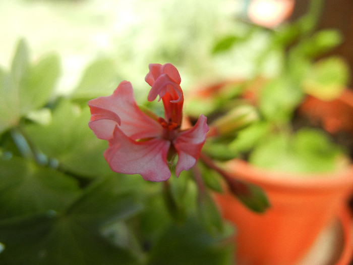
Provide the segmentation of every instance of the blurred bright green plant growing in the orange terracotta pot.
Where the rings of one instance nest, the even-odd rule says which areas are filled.
[[[258,51],[255,48],[248,61],[253,67],[249,78],[228,79],[209,88],[208,96],[201,95],[188,104],[190,112],[202,111],[216,118],[219,113],[226,114],[214,122],[222,127],[222,137],[205,146],[214,158],[241,155],[260,168],[297,173],[329,172],[349,165],[349,146],[336,146],[329,140],[331,136],[298,117],[307,95],[333,100],[350,78],[342,58],[323,57],[342,36],[335,29],[315,32],[321,8],[322,2],[314,0],[308,13],[292,24],[275,31],[252,26],[245,34],[222,36],[216,42],[215,57],[223,60],[226,56],[234,64],[243,48],[254,50],[252,43],[261,41],[266,45]],[[237,123],[249,126],[239,131]]]

